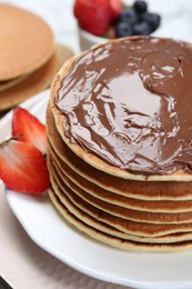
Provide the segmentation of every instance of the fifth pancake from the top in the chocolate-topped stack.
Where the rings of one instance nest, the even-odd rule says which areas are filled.
[[[51,183],[54,188],[54,191],[58,196],[60,196],[60,199],[62,199],[62,195],[68,196],[70,201],[74,202],[77,207],[81,208],[83,212],[87,212],[91,215],[91,217],[94,217],[95,219],[102,220],[103,222],[107,222],[109,226],[114,227],[115,229],[122,230],[125,233],[137,235],[137,236],[164,236],[166,233],[173,233],[173,232],[182,232],[182,231],[191,231],[191,223],[150,223],[150,222],[142,222],[133,221],[130,219],[122,219],[117,218],[112,211],[105,212],[104,210],[98,208],[95,203],[90,203],[89,198],[82,199],[74,190],[70,187],[67,182],[64,182],[64,179],[61,180],[61,177],[57,173],[55,169],[53,168],[53,165],[51,162],[51,157],[49,156],[49,162],[48,162],[50,173],[51,173]],[[62,175],[63,178],[63,175]],[[61,192],[62,191],[62,192]],[[165,213],[166,215],[166,213]],[[113,221],[111,221],[111,219]],[[83,220],[83,219],[82,219]],[[115,220],[115,222],[114,222]],[[134,231],[135,229],[135,231]]]

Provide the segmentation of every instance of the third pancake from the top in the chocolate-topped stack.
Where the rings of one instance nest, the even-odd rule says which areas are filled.
[[[186,212],[192,210],[192,201],[172,201],[172,200],[141,200],[141,199],[133,199],[129,197],[124,197],[121,195],[113,193],[111,191],[104,190],[103,188],[90,182],[88,179],[82,178],[75,171],[71,170],[71,168],[59,159],[51,144],[48,143],[49,155],[54,162],[54,167],[60,172],[59,175],[64,179],[67,177],[72,182],[74,182],[79,188],[85,190],[88,193],[104,200],[109,203],[119,205],[124,208],[133,208],[141,211],[159,211],[159,212]]]

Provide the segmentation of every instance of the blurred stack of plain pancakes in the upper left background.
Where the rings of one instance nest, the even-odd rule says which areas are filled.
[[[0,4],[0,110],[50,86],[70,49],[55,46],[50,27],[34,13]]]

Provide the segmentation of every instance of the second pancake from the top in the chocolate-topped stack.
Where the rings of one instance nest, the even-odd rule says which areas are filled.
[[[67,163],[81,177],[105,190],[141,200],[192,200],[192,182],[125,180],[114,176],[111,177],[82,161],[82,159],[74,155],[62,141],[58,133],[50,107],[48,107],[47,111],[47,132],[55,155],[61,159],[61,166],[62,162]]]

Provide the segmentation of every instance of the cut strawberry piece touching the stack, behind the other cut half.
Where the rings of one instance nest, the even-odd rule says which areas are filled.
[[[43,155],[46,155],[46,127],[23,108],[17,107],[13,109],[12,136],[17,137],[21,141],[32,143]]]

